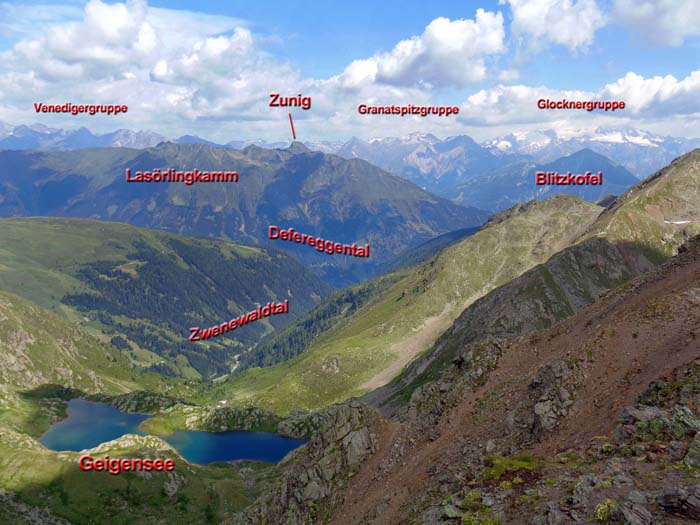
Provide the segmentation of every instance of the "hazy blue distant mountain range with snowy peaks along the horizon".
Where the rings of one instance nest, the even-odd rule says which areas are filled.
[[[219,144],[195,135],[168,138],[150,131],[128,129],[95,134],[84,127],[64,130],[43,124],[12,126],[0,123],[0,149],[149,148],[166,141],[232,149],[244,149],[250,145],[279,149],[288,148],[292,143],[290,140],[234,139]],[[523,159],[549,163],[582,149],[608,157],[641,179],[683,153],[700,147],[700,138],[658,135],[629,126],[601,126],[566,131],[518,131],[481,143],[466,135],[440,139],[430,133],[417,132],[404,137],[371,140],[353,137],[346,141],[305,141],[304,144],[313,151],[367,160],[440,194],[441,187],[448,188],[450,182],[454,182],[452,179],[470,172],[473,176],[488,175],[489,170]]]

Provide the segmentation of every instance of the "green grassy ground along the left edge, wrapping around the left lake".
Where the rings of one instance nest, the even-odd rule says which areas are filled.
[[[18,496],[15,504],[0,497],[0,521],[24,523],[28,505],[74,523],[207,523],[249,503],[236,469],[189,465],[155,438],[121,438],[96,455],[173,457],[175,476],[82,472],[80,454],[47,450],[31,437],[64,417],[62,398],[75,395],[50,385],[76,394],[146,388],[186,395],[185,384],[135,372],[118,350],[7,292],[0,292],[0,361],[0,488]],[[168,485],[177,485],[172,496]]]

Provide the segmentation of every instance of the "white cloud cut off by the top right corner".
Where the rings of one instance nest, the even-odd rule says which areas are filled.
[[[700,35],[700,2],[697,0],[615,0],[615,17],[643,40],[680,46]]]

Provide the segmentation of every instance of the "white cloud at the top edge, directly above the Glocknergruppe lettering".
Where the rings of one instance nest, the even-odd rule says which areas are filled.
[[[527,50],[558,44],[572,51],[589,47],[606,17],[596,0],[507,0],[513,33]]]

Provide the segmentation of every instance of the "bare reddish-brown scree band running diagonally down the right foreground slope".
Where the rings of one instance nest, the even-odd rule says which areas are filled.
[[[486,384],[444,414],[434,440],[405,424],[392,432],[349,482],[332,523],[404,523],[441,477],[460,476],[465,460],[485,454],[487,440],[507,439],[506,414],[528,402],[528,385],[556,360],[582,363],[575,401],[530,452],[552,455],[609,435],[621,410],[652,381],[700,359],[700,246],[683,264],[665,265],[569,320],[503,347]]]

